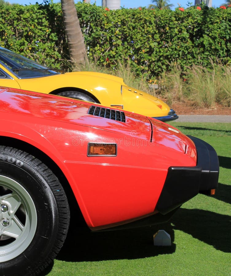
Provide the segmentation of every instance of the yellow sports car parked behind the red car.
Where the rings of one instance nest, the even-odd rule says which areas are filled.
[[[63,73],[0,47],[0,86],[56,94],[171,121],[178,118],[160,99],[95,72]]]

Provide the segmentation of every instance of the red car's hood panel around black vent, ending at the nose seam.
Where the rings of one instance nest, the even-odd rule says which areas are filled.
[[[0,88],[0,108],[6,112],[85,125],[105,131],[151,140],[152,127],[147,117],[126,113],[126,122],[89,115],[92,103],[10,88]]]

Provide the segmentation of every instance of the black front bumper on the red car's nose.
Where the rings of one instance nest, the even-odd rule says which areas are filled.
[[[164,187],[156,209],[163,215],[176,209],[200,191],[209,191],[218,186],[219,161],[210,144],[193,136],[197,149],[196,167],[169,167]]]

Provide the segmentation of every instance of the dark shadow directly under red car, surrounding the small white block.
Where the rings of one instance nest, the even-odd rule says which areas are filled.
[[[139,259],[175,252],[175,244],[154,247],[153,234],[164,229],[174,240],[171,224],[127,230],[91,232],[88,228],[74,228],[56,259],[67,262]]]

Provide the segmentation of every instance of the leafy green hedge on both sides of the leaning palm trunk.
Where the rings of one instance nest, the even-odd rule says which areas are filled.
[[[48,67],[68,68],[60,3],[0,6],[0,45]],[[76,9],[90,61],[116,67],[130,62],[153,79],[176,62],[210,67],[231,63],[231,8],[121,9],[79,2]]]

